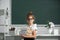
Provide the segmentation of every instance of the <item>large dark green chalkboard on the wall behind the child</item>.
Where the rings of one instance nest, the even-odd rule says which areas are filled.
[[[29,11],[35,15],[37,24],[60,24],[60,0],[12,0],[12,24],[26,24]]]

